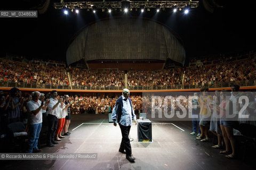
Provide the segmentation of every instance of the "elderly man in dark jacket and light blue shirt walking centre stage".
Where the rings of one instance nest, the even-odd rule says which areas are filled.
[[[116,123],[119,124],[122,132],[122,142],[119,148],[119,152],[126,154],[126,159],[130,162],[134,162],[135,158],[132,156],[132,148],[129,139],[129,133],[132,125],[132,118],[137,125],[136,115],[134,114],[132,101],[129,98],[130,91],[128,89],[123,90],[123,95],[119,97],[112,112],[112,120],[114,121],[114,126]],[[117,122],[116,122],[117,116]]]

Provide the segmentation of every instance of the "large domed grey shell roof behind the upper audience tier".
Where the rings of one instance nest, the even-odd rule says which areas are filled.
[[[67,64],[93,60],[163,60],[184,64],[185,49],[165,25],[143,18],[93,22],[77,33],[67,49]]]

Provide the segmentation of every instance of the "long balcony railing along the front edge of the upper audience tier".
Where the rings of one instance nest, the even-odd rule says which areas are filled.
[[[214,84],[172,84],[172,85],[159,85],[159,86],[128,86],[130,90],[170,90],[170,89],[200,89],[202,86],[206,86],[209,89],[211,88],[227,88],[231,87],[232,84],[239,84],[241,87],[247,86],[256,86],[256,80],[246,80],[246,81],[233,81],[233,82],[217,82]],[[33,89],[71,89],[69,85],[58,85],[58,84],[36,84],[36,83],[20,83],[13,81],[0,81],[0,87],[9,87],[9,88],[33,88]],[[83,86],[75,85],[72,86],[73,90],[122,90],[124,86]]]

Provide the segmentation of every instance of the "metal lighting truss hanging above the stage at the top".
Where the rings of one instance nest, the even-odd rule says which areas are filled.
[[[196,8],[198,7],[198,1],[122,1],[122,2],[130,2],[130,8],[140,8],[141,6],[145,8],[185,8],[191,7]],[[57,10],[62,9],[63,7],[69,9],[81,8],[81,9],[88,9],[91,10],[94,8],[108,8],[111,7],[115,8],[122,8],[122,2],[111,1],[111,2],[61,2],[61,3],[54,3],[54,8]]]

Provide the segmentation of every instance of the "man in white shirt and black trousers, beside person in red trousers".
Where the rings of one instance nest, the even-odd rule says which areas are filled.
[[[54,141],[55,132],[58,126],[58,117],[60,113],[60,101],[57,100],[58,92],[51,91],[50,103],[48,105],[47,120],[48,120],[48,133],[47,133],[47,146],[54,147],[58,142]]]

